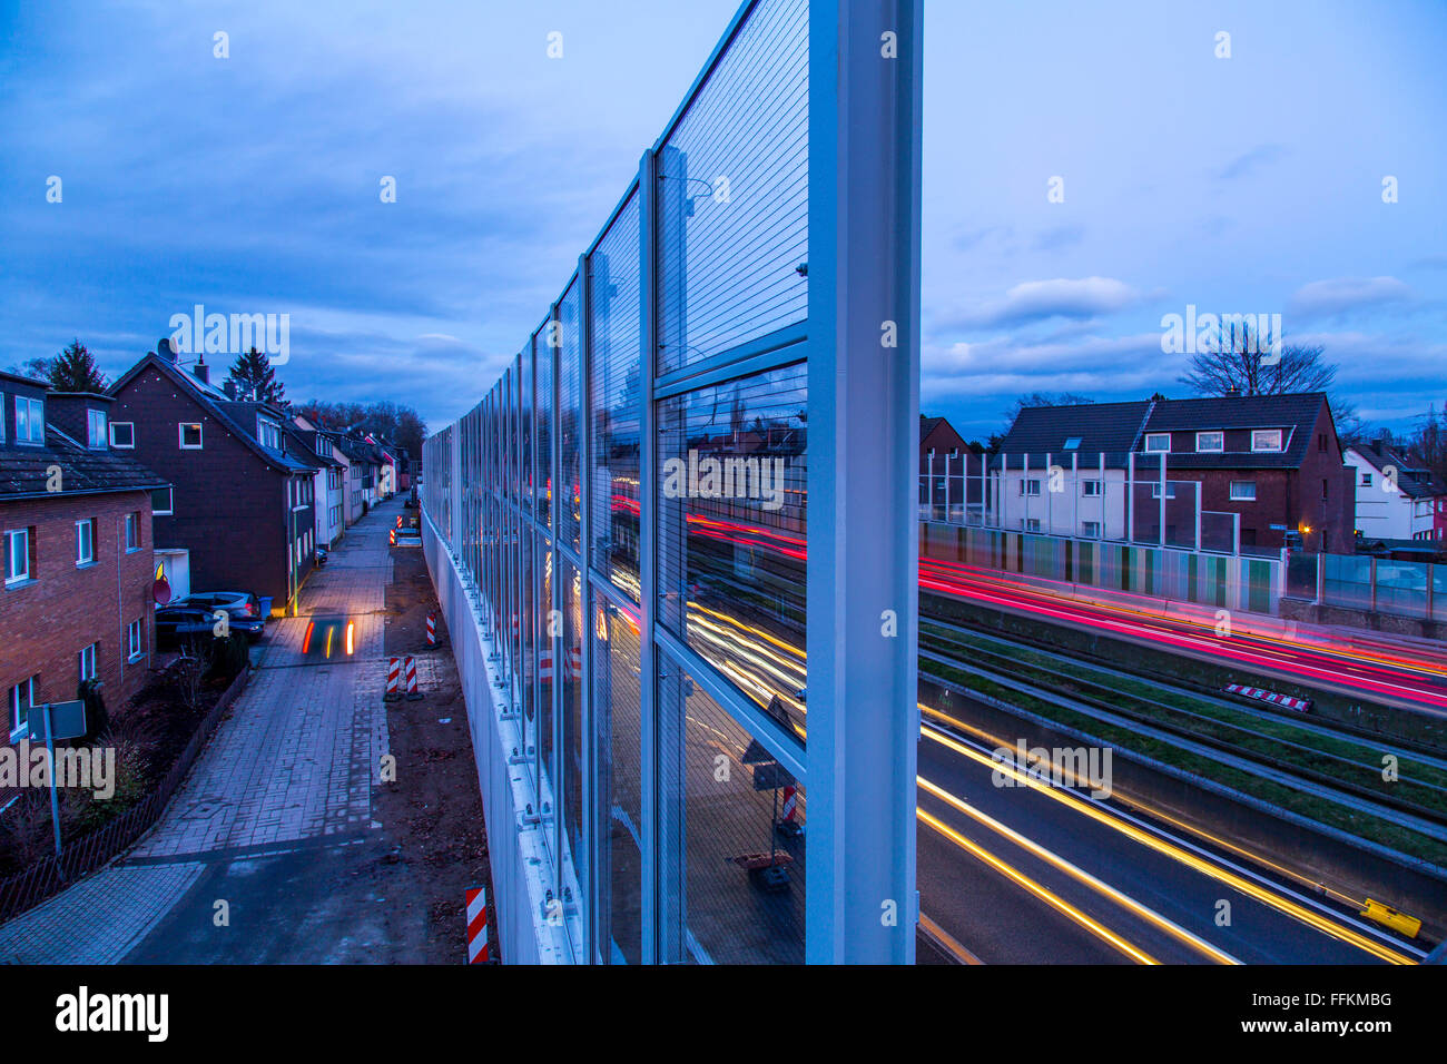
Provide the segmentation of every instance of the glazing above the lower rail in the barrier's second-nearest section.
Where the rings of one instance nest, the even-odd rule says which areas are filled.
[[[592,565],[638,601],[638,460],[642,417],[638,197],[590,261],[593,408]]]

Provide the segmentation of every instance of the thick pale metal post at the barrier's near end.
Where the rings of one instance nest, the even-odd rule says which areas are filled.
[[[810,4],[810,963],[915,960],[922,29]]]

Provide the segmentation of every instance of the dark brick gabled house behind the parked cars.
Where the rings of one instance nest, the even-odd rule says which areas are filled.
[[[294,605],[314,562],[318,463],[288,452],[285,411],[213,387],[204,362],[188,372],[158,353],[110,394],[114,446],[172,485],[155,511],[156,546],[191,552],[191,589],[247,591],[273,612]]]

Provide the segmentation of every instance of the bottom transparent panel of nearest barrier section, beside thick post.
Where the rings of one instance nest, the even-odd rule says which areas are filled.
[[[657,682],[660,960],[802,964],[803,788],[676,663]]]

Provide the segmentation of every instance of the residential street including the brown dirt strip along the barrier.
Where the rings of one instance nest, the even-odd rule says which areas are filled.
[[[424,647],[421,552],[388,547],[401,512],[392,499],[347,531],[301,615],[268,624],[250,683],[156,828],[0,926],[0,963],[466,960],[482,803],[451,654]],[[313,615],[353,621],[355,654],[304,653]],[[383,702],[392,653],[417,654],[421,701]],[[395,783],[381,782],[385,756]]]

